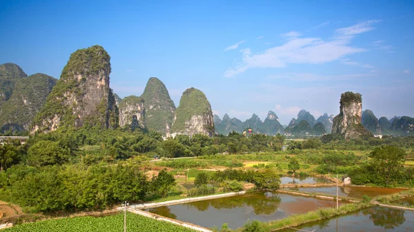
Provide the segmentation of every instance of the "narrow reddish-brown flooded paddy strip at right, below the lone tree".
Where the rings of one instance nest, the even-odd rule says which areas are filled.
[[[329,195],[336,195],[336,187],[309,187],[309,188],[297,188],[295,190],[304,191],[308,193],[324,193]],[[380,188],[380,187],[359,187],[359,186],[345,186],[339,187],[339,196],[346,196],[350,198],[362,198],[366,195],[371,198],[380,195],[388,195],[393,193],[399,193],[404,189],[393,188]]]

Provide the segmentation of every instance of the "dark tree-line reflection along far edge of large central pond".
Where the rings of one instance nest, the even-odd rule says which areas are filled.
[[[251,196],[239,198],[219,198],[214,201],[202,200],[199,202],[188,203],[189,207],[195,207],[199,211],[206,211],[208,207],[215,209],[233,209],[239,207],[252,207],[256,215],[272,215],[277,211],[280,198],[277,193],[262,192]]]

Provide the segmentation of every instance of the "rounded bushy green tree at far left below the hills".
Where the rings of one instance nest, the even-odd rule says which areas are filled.
[[[69,152],[59,143],[42,140],[28,149],[28,162],[32,166],[61,165],[69,160]]]

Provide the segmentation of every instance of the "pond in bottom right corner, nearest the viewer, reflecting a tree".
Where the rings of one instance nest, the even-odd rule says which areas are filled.
[[[295,226],[296,229],[306,231],[414,231],[414,211],[404,211],[401,209],[388,209],[384,207],[371,207],[363,209],[357,213],[339,216],[330,220],[321,220]],[[279,232],[297,232],[293,229],[284,229]]]

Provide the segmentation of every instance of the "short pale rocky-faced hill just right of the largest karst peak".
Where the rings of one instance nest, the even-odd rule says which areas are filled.
[[[127,96],[119,104],[119,125],[129,125],[132,129],[136,127],[145,128],[144,99],[137,96]]]

